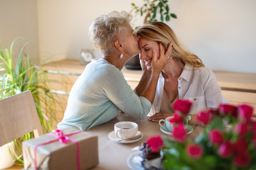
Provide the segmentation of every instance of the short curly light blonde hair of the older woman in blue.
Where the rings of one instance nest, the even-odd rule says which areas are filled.
[[[112,11],[96,17],[89,28],[90,42],[101,54],[113,54],[116,48],[115,41],[124,37],[118,33],[127,30],[126,25],[131,22],[132,18],[133,16],[126,11]]]

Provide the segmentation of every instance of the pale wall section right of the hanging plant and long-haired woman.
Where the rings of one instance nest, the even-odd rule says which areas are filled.
[[[183,45],[216,71],[256,73],[256,0],[172,0]]]

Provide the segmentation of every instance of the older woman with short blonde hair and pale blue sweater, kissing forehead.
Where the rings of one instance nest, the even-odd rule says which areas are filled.
[[[145,119],[148,115],[158,77],[169,61],[172,47],[169,45],[164,54],[160,46],[159,59],[153,51],[152,73],[146,71],[143,74],[142,79],[147,78],[148,83],[140,84],[145,87],[145,91],[138,96],[121,72],[125,63],[140,53],[139,38],[129,24],[131,20],[131,14],[125,11],[113,11],[93,20],[89,37],[102,58],[93,59],[73,85],[64,118],[58,128],[73,127],[85,131],[113,119],[119,110],[136,119]]]

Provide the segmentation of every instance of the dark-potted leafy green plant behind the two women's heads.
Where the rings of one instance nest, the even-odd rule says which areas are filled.
[[[168,0],[143,0],[144,4],[139,7],[134,3],[131,4],[132,11],[135,11],[135,16],[145,14],[144,23],[151,21],[157,21],[157,14],[160,15],[161,22],[168,22],[171,17],[177,18],[176,14],[169,12]],[[137,30],[140,26],[136,26],[134,30]],[[141,70],[139,54],[132,57],[126,64],[125,67],[130,70]]]

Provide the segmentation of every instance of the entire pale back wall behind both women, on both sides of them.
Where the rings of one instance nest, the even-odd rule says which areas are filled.
[[[131,3],[143,0],[38,0],[40,51],[54,59],[78,59],[81,48],[91,45],[92,20],[113,10],[131,11]],[[204,64],[219,71],[256,73],[255,0],[169,0],[173,28],[183,45]],[[136,17],[137,24],[143,18]],[[43,56],[42,56],[43,57]],[[96,58],[100,57],[99,52]]]

